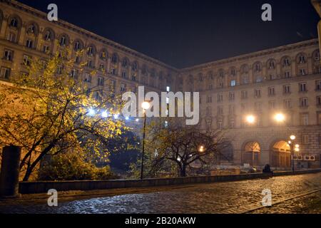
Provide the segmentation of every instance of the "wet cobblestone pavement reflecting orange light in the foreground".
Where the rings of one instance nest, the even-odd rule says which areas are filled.
[[[272,191],[272,202],[281,202],[250,213],[321,213],[321,193],[305,195],[321,189],[321,173],[165,187],[154,192],[60,201],[58,207],[33,202],[0,204],[0,213],[244,213],[261,206],[264,189]],[[297,195],[302,197],[282,202]]]

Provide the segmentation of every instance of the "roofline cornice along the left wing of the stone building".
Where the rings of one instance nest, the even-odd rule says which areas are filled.
[[[8,4],[9,6],[13,6],[16,9],[26,11],[29,14],[33,14],[34,16],[38,16],[41,19],[47,20],[47,14],[43,11],[40,11],[38,9],[34,9],[31,6],[27,6],[26,4],[22,4],[21,2],[15,1],[15,0],[0,0],[0,2],[4,4]],[[108,38],[105,38],[103,36],[100,36],[96,33],[93,33],[91,31],[88,31],[84,28],[80,28],[79,26],[76,26],[74,24],[71,24],[67,21],[64,21],[62,19],[58,19],[58,21],[52,21],[51,23],[54,23],[58,26],[63,26],[65,28],[71,29],[72,31],[75,31],[77,33],[81,33],[82,35],[86,35],[89,38],[93,38],[96,41],[99,41],[101,43],[104,43],[108,46],[112,46],[113,48],[117,48],[118,50],[124,51],[126,53],[130,53],[133,56],[136,56],[138,58],[142,58],[145,61],[149,61],[153,64],[157,64],[159,66],[163,66],[165,68],[169,68],[172,71],[179,71],[178,68],[175,68],[173,66],[170,66],[166,63],[163,63],[162,61],[157,60],[156,58],[152,58],[150,56],[147,56],[146,54],[140,53],[138,51],[135,51],[131,48],[128,48],[126,46],[121,45],[120,43],[116,43],[115,41],[111,41]]]

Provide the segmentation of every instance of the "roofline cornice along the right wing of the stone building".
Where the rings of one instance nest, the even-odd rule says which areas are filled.
[[[267,49],[263,49],[261,51],[255,51],[255,52],[251,52],[251,53],[245,53],[243,55],[240,56],[233,56],[230,58],[223,58],[223,59],[219,59],[217,61],[210,61],[208,63],[201,63],[199,65],[195,65],[195,66],[190,66],[188,68],[183,68],[180,69],[180,72],[186,72],[186,71],[195,71],[199,68],[211,68],[213,66],[220,66],[221,64],[225,64],[225,63],[233,63],[235,61],[243,61],[247,58],[256,58],[259,56],[267,56],[270,55],[271,53],[278,53],[278,52],[282,52],[282,51],[288,51],[291,49],[295,49],[295,48],[301,48],[304,46],[312,46],[317,44],[319,41],[317,38],[312,38],[310,40],[307,41],[300,41],[297,43],[290,43],[284,46],[278,46],[276,48],[267,48]]]

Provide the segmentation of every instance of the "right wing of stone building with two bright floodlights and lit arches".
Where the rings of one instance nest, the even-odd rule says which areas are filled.
[[[289,168],[287,142],[294,134],[297,167],[320,167],[317,39],[185,68],[180,75],[183,90],[200,91],[201,128],[225,130],[230,138],[225,157],[234,164]]]

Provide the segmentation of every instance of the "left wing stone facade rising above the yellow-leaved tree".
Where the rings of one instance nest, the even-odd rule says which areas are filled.
[[[66,21],[47,20],[47,14],[16,1],[0,1],[0,53],[2,80],[25,73],[32,58],[46,59],[59,46],[68,46],[71,55],[86,50],[80,62],[87,62],[87,72],[74,76],[89,86],[112,86],[119,93],[137,86],[161,91],[172,88],[177,70],[131,48],[98,36]],[[90,72],[96,69],[96,76]]]

